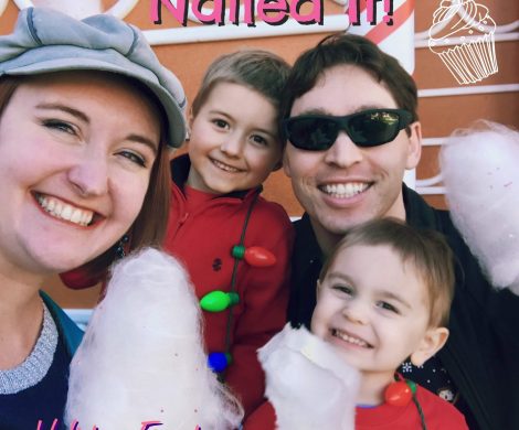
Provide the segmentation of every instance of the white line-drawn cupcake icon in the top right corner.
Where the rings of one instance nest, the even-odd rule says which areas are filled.
[[[442,0],[428,29],[428,49],[458,84],[475,84],[498,72],[495,32],[487,7],[474,0]]]

